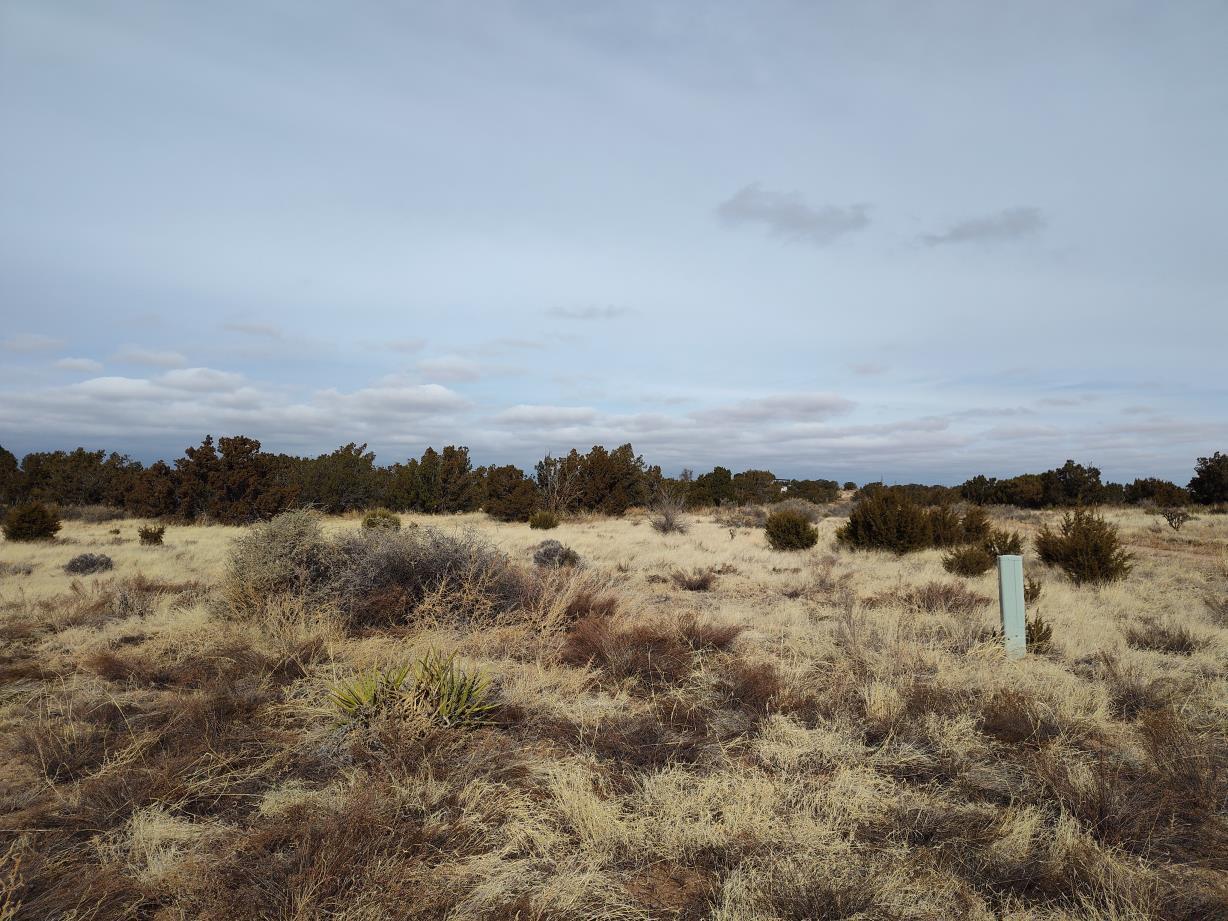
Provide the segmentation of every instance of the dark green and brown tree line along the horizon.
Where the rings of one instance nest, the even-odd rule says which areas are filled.
[[[844,484],[852,489],[855,484]],[[867,484],[858,495],[882,489]],[[974,476],[960,486],[909,484],[892,489],[925,505],[966,501],[1028,508],[1153,502],[1228,502],[1228,454],[1199,458],[1185,488],[1156,478],[1129,485],[1102,483],[1095,467],[1067,460],[1040,474],[1009,479]],[[764,505],[783,499],[831,502],[840,484],[826,479],[781,479],[770,470],[733,473],[716,467],[695,475],[667,478],[631,445],[613,451],[594,446],[546,456],[532,472],[515,464],[475,467],[469,449],[449,445],[426,448],[418,458],[378,465],[366,445],[344,445],[332,453],[298,457],[263,451],[246,436],[206,436],[200,445],[166,463],[145,465],[104,451],[50,451],[20,462],[0,447],[0,505],[48,502],[106,505],[146,518],[247,523],[296,506],[329,513],[386,507],[399,512],[470,512],[523,521],[538,510],[559,515],[621,515],[632,506],[672,502],[688,507]]]

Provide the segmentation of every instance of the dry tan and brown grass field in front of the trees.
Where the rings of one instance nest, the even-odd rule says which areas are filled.
[[[238,528],[0,543],[0,921],[1228,917],[1228,516],[1108,517],[1125,582],[1029,544],[1054,635],[1018,662],[992,572],[835,517],[774,553],[711,513],[403,516],[507,558],[418,593],[370,575],[392,543],[328,591],[269,588]],[[429,651],[488,721],[332,702]]]

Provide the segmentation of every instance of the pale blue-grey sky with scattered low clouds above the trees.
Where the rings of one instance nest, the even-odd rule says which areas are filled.
[[[1197,0],[0,0],[0,445],[1184,483],[1224,48]]]

